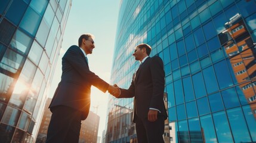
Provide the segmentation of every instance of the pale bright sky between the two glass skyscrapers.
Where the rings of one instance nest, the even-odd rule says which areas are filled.
[[[53,82],[48,97],[53,98],[61,77],[61,58],[72,45],[78,45],[83,33],[95,36],[95,48],[88,56],[90,70],[109,83],[115,46],[116,24],[118,21],[120,0],[73,0],[64,31],[61,51],[55,67]],[[98,136],[102,135],[106,125],[107,102],[109,94],[92,86],[91,109],[100,116]]]

